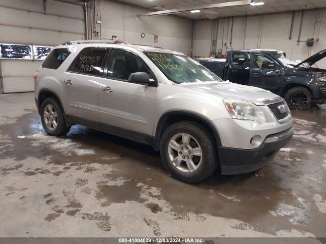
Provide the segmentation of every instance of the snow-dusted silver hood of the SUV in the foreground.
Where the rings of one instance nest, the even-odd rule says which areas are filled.
[[[280,96],[271,93],[268,90],[254,86],[235,84],[228,81],[182,83],[179,85],[205,94],[218,96],[220,98],[239,99],[256,105],[277,103],[283,100]]]

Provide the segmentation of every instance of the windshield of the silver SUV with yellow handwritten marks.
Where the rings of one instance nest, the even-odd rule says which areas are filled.
[[[223,81],[190,57],[159,52],[146,54],[165,76],[175,83]]]

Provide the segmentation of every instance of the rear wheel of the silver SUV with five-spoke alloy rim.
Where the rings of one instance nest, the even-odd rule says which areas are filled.
[[[51,136],[63,136],[69,132],[70,126],[66,126],[62,109],[54,98],[45,99],[40,111],[42,125],[47,134]]]

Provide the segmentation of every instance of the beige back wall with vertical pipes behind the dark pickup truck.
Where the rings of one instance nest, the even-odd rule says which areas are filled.
[[[286,52],[291,60],[305,59],[324,49],[326,46],[326,10],[295,11],[293,16],[292,35],[290,37],[293,12],[264,14],[256,16],[241,16],[218,19],[218,39],[216,52],[227,48],[232,49],[277,49]],[[300,25],[301,37],[304,42],[297,43]],[[232,29],[232,43],[231,42]],[[205,56],[210,53],[212,20],[197,20],[194,24],[194,55]],[[312,47],[307,47],[308,38],[314,38]],[[316,41],[319,38],[319,41]],[[298,45],[297,45],[298,44]],[[326,60],[320,60],[318,66],[326,67]]]

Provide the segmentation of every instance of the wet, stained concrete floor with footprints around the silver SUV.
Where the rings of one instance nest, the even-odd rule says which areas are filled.
[[[0,95],[1,237],[325,236],[326,106],[292,111],[290,152],[256,174],[187,185],[149,146],[47,136],[33,96]]]

